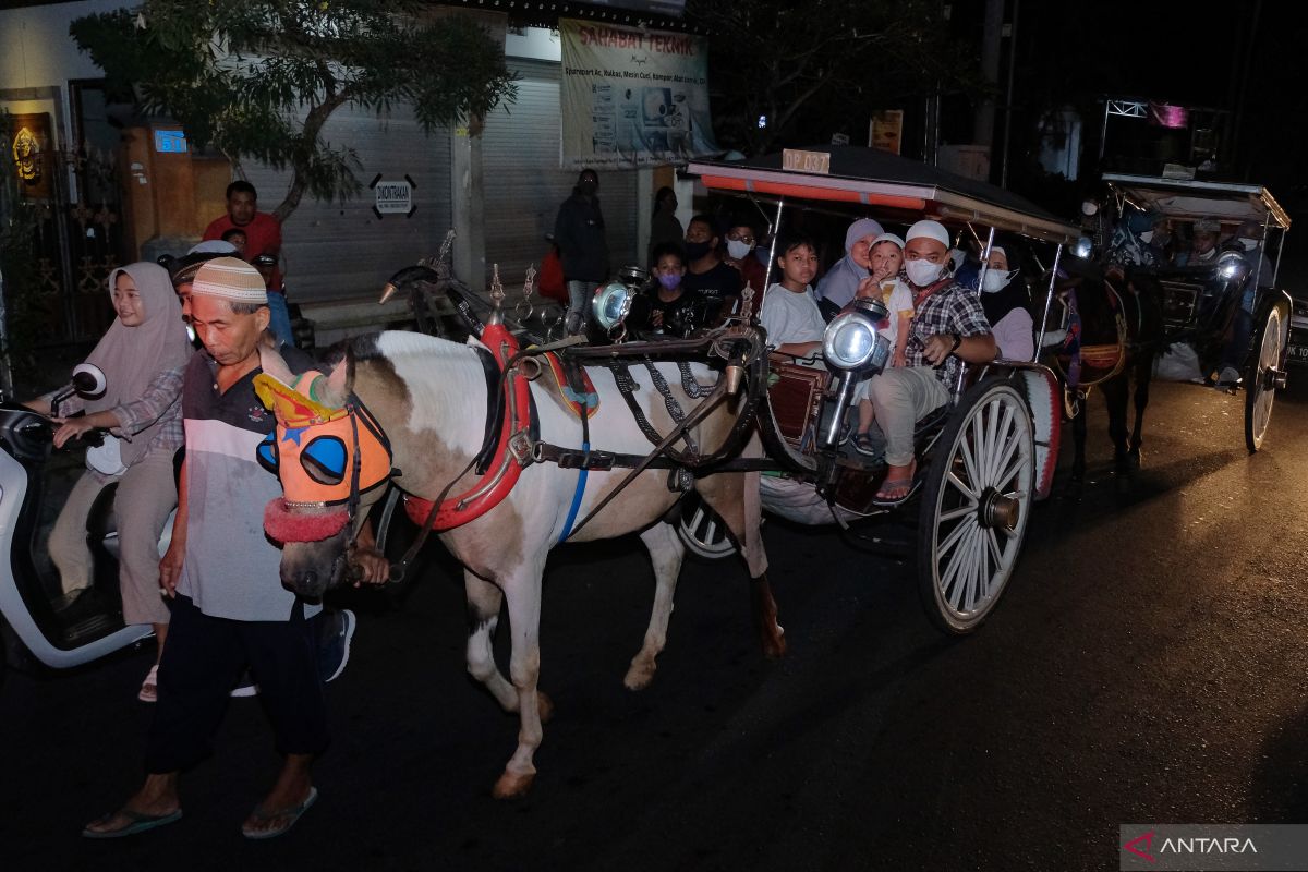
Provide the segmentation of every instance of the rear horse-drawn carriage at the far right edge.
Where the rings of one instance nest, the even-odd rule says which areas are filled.
[[[1203,258],[1185,250],[1162,252],[1155,246],[1146,263],[1126,264],[1126,278],[1138,290],[1156,294],[1165,344],[1190,346],[1199,375],[1216,373],[1223,386],[1244,390],[1245,444],[1257,451],[1275,392],[1286,387],[1294,301],[1275,288],[1290,216],[1260,184],[1113,173],[1104,182],[1117,238],[1125,243],[1137,243],[1139,234],[1133,239],[1126,230],[1146,216],[1146,224],[1165,221],[1173,229],[1213,222],[1218,227],[1210,233],[1226,237],[1224,242],[1218,237]],[[1228,367],[1239,373],[1237,380],[1222,380],[1220,371]]]

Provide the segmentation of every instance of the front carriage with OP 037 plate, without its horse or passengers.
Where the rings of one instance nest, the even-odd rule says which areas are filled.
[[[1079,234],[1007,191],[871,149],[700,161],[689,171],[712,192],[766,204],[774,209],[774,226],[787,209],[850,217],[872,212],[905,225],[935,218],[980,250],[982,271],[995,231],[1045,243],[1050,265]],[[1046,294],[1052,272],[1049,280]],[[884,477],[884,460],[853,450],[844,424],[853,386],[880,370],[871,360],[875,335],[870,322],[853,312],[828,326],[825,369],[772,356],[759,431],[780,475],[764,477],[763,505],[800,523],[849,524],[916,511],[923,608],[942,630],[967,633],[997,604],[1032,506],[1049,495],[1062,408],[1057,379],[1046,366],[1025,360],[969,367],[964,380],[951,386],[951,401],[917,425],[918,498],[880,506],[872,494]],[[681,526],[683,539],[704,556],[722,552],[712,523],[692,506]]]

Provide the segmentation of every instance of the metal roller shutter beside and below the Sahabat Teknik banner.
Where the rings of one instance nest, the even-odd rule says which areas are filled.
[[[487,276],[500,264],[505,288],[522,286],[528,265],[539,268],[545,234],[559,204],[572,193],[577,174],[559,169],[561,65],[509,59],[519,76],[518,99],[487,119],[481,140],[485,192]],[[610,267],[636,259],[636,171],[602,171],[599,203],[608,231]]]

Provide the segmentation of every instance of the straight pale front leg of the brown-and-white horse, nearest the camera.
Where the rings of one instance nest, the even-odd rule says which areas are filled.
[[[540,575],[544,560],[528,561],[525,566],[501,577],[509,600],[509,629],[513,633],[513,655],[509,677],[518,694],[518,749],[509,758],[504,774],[494,784],[496,799],[522,796],[536,779],[534,762],[536,748],[544,736],[540,727],[542,706],[549,707],[539,693],[540,679]]]

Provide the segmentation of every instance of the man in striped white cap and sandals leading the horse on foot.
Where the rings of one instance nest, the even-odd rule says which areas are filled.
[[[186,460],[173,541],[160,563],[160,583],[174,597],[173,621],[146,778],[119,811],[82,830],[88,838],[132,835],[181,818],[178,775],[211,753],[228,694],[247,665],[285,765],[242,831],[279,835],[318,796],[309,766],[327,746],[327,716],[309,618],[322,607],[280,583],[281,553],[264,535],[263,506],[281,495],[281,484],[255,458],[273,430],[252,384],[268,318],[263,278],[250,264],[216,258],[196,271],[191,324],[204,348],[191,357],[182,387]],[[298,357],[289,361],[294,370],[313,363]]]

